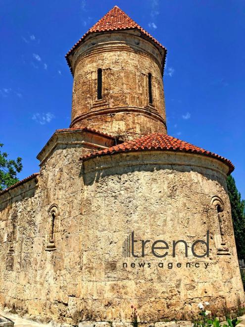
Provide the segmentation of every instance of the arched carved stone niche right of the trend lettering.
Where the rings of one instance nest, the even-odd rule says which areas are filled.
[[[215,210],[215,221],[218,226],[218,243],[217,255],[219,256],[230,256],[231,253],[226,245],[226,235],[228,234],[227,226],[227,215],[225,212],[224,202],[217,195],[211,199],[211,207]]]

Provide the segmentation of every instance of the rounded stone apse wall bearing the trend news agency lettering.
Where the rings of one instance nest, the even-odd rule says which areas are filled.
[[[132,304],[141,321],[152,322],[190,319],[203,301],[210,302],[210,310],[221,316],[224,308],[244,303],[223,163],[151,151],[104,156],[85,162],[84,167],[83,228],[90,237],[83,239],[80,297],[93,320],[103,316],[111,321],[128,320]],[[222,206],[222,221],[215,201]],[[207,230],[209,257],[196,258],[191,244],[205,240]],[[160,239],[169,244],[167,257],[153,257],[146,246],[144,258],[124,258],[122,242],[132,231],[138,239],[136,253],[141,252],[140,240]],[[183,245],[172,256],[171,242],[180,239],[188,243],[188,258]],[[222,242],[226,252],[219,252]],[[202,246],[197,246],[198,251],[204,252]],[[185,267],[187,262],[190,268]],[[143,263],[144,269],[139,267]],[[167,263],[173,264],[172,269]]]

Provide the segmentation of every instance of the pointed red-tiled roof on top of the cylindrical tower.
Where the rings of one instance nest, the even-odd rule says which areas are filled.
[[[122,9],[115,5],[110,11],[108,11],[93,27],[91,27],[87,33],[71,48],[71,50],[65,55],[66,60],[70,65],[68,56],[73,52],[75,48],[84,40],[84,38],[91,33],[107,32],[107,31],[119,31],[119,30],[129,30],[138,29],[142,34],[147,36],[151,41],[157,44],[159,47],[166,49],[151,36],[146,30],[144,30],[140,25],[138,25],[132,18],[130,18]]]

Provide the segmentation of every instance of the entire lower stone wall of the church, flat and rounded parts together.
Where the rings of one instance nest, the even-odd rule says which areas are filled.
[[[41,166],[38,183],[25,183],[21,197],[18,189],[7,206],[1,204],[2,306],[42,321],[76,325],[130,322],[132,304],[141,321],[152,322],[190,318],[199,301],[220,311],[244,301],[223,163],[157,152],[79,161],[89,151],[82,145],[58,145]],[[217,256],[221,239],[213,197],[223,203],[231,255]],[[58,208],[55,250],[47,251],[53,205]],[[14,252],[8,253],[12,221]],[[209,230],[210,257],[185,258],[180,247],[176,258],[148,253],[123,258],[123,240],[133,230],[138,240],[171,243],[181,235],[189,246]],[[164,268],[157,267],[159,261]],[[187,261],[191,268],[176,267]],[[139,268],[139,262],[151,267]],[[171,270],[166,262],[173,263]],[[196,262],[199,268],[193,267]]]

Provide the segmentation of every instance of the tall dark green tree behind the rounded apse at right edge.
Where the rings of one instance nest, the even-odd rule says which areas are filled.
[[[236,187],[235,179],[227,178],[228,194],[231,202],[232,220],[239,259],[245,259],[245,200]]]

